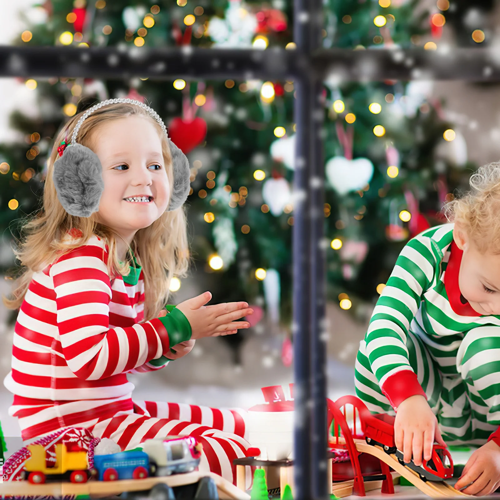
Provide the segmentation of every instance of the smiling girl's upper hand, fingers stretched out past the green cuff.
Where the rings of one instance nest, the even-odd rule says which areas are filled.
[[[191,339],[228,335],[236,333],[239,328],[250,327],[246,321],[233,321],[253,313],[246,302],[205,305],[210,298],[212,294],[205,291],[177,305],[191,325]]]

